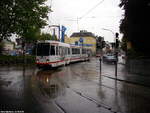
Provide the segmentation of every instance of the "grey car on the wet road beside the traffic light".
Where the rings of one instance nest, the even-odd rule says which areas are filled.
[[[115,55],[112,55],[112,54],[103,55],[103,62],[115,63],[116,62],[116,57],[115,57]]]

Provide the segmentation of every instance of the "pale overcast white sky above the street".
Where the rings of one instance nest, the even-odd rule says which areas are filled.
[[[87,30],[113,42],[124,14],[119,3],[120,0],[48,0],[46,4],[53,10],[48,14],[48,25],[64,25],[67,36]],[[45,31],[51,33],[52,28],[46,27]]]

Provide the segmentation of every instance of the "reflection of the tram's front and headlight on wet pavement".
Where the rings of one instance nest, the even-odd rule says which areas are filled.
[[[61,70],[57,70],[58,73]],[[38,86],[40,92],[43,96],[48,96],[49,98],[56,98],[63,95],[65,92],[65,85],[60,80],[59,74],[55,75],[54,71],[38,71],[34,81],[34,86]]]

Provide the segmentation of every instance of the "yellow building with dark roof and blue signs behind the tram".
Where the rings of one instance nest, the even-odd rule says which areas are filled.
[[[65,43],[89,48],[93,55],[96,54],[96,37],[91,32],[85,30],[75,32],[70,37],[65,37]]]

